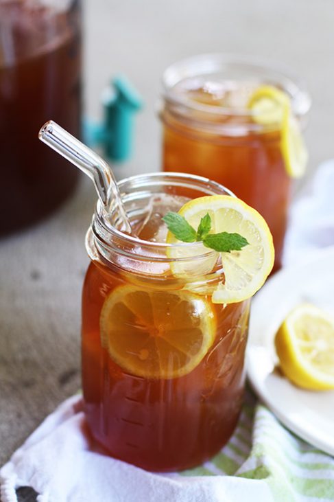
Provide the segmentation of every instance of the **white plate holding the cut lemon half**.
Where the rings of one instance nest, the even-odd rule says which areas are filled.
[[[334,314],[334,247],[314,259],[283,269],[254,297],[247,368],[252,387],[285,426],[334,455],[334,391],[295,387],[277,369],[274,336],[287,313],[311,302]]]

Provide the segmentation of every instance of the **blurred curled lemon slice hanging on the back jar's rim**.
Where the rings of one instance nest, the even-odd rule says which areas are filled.
[[[285,170],[292,178],[300,178],[307,166],[307,149],[299,122],[291,111],[288,95],[276,87],[263,85],[251,95],[248,108],[257,124],[278,124],[281,128],[281,151]]]

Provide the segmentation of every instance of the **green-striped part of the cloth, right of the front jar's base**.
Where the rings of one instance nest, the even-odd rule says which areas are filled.
[[[250,390],[228,444],[181,475],[262,479],[275,502],[334,501],[334,458],[287,431]]]

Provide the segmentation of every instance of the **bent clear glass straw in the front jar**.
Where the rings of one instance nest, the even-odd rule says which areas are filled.
[[[56,150],[62,157],[73,163],[89,176],[95,185],[97,195],[104,205],[107,216],[110,215],[112,202],[115,201],[123,230],[133,234],[130,220],[121,200],[121,194],[110,166],[97,153],[64,130],[53,120],[46,122],[38,137],[43,143]]]

